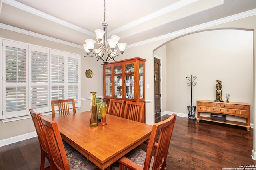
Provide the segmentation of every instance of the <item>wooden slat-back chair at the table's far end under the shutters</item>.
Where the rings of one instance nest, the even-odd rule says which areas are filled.
[[[52,100],[52,117],[55,117],[55,104],[58,104],[58,109],[59,109],[59,116],[64,116],[64,115],[69,115],[69,105],[72,102],[73,106],[73,114],[76,113],[76,105],[75,105],[75,100],[74,99],[64,99],[64,100]]]

